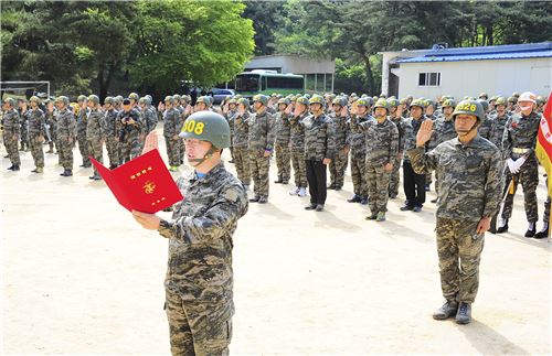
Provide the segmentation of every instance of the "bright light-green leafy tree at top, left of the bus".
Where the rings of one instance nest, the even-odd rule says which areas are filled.
[[[131,83],[174,90],[182,80],[212,86],[243,71],[254,50],[253,25],[235,1],[140,1],[132,24]]]

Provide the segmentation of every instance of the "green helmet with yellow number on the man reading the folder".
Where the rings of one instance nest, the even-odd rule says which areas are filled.
[[[229,121],[213,111],[198,111],[190,115],[179,136],[183,139],[209,141],[217,149],[230,147]]]

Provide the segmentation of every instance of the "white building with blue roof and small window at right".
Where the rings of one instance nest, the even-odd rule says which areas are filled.
[[[382,93],[397,98],[510,96],[531,90],[549,96],[552,42],[486,47],[382,52]]]

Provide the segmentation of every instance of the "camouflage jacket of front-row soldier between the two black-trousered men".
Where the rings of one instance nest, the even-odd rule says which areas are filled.
[[[378,122],[376,119],[357,123],[351,120],[351,130],[365,134],[367,164],[384,165],[394,163],[399,153],[399,130],[386,119]]]

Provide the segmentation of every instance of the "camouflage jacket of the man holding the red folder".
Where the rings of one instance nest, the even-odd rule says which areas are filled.
[[[169,239],[164,287],[184,302],[223,305],[233,314],[233,235],[247,213],[247,193],[222,163],[199,179],[195,172],[177,185],[184,198],[159,234]]]

